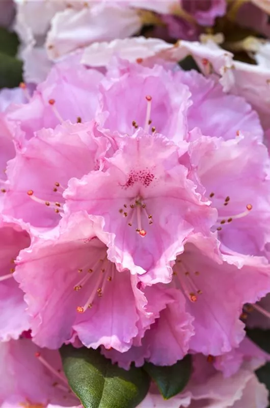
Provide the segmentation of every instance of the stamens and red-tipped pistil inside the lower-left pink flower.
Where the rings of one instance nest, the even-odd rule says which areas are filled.
[[[74,285],[74,291],[82,290],[90,278],[95,279],[95,284],[92,286],[85,304],[77,306],[76,310],[78,313],[85,313],[87,309],[91,309],[94,299],[103,296],[105,286],[112,281],[114,272],[114,264],[108,261],[107,258],[99,259],[92,268],[78,269],[78,273],[83,273],[84,276]]]

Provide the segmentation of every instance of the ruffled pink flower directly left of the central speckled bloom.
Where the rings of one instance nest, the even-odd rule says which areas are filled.
[[[3,212],[34,226],[55,226],[68,180],[98,169],[106,144],[93,122],[64,122],[55,131],[38,131],[35,138],[17,147],[16,158],[9,162]]]

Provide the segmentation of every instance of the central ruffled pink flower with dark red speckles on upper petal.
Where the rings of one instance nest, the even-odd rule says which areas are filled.
[[[69,182],[67,208],[96,216],[110,236],[108,256],[121,270],[147,271],[141,277],[145,282],[168,283],[169,263],[183,250],[184,239],[194,232],[207,235],[215,212],[179,165],[184,142],[177,147],[138,129],[119,138],[118,146],[106,171]]]

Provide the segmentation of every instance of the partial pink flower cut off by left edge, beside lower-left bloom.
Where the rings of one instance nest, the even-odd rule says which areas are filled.
[[[25,229],[27,228],[27,229]],[[23,293],[14,280],[15,260],[30,245],[29,228],[10,217],[0,219],[0,340],[17,339],[30,328]]]

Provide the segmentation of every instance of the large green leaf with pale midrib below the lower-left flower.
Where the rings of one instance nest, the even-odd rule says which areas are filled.
[[[63,346],[60,352],[69,385],[85,408],[133,408],[148,392],[150,378],[140,368],[123,370],[85,347]]]

